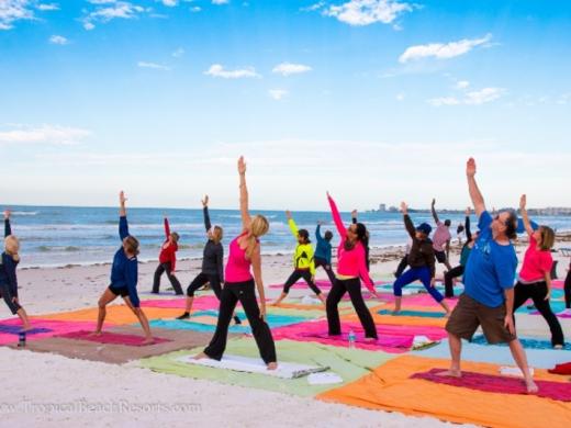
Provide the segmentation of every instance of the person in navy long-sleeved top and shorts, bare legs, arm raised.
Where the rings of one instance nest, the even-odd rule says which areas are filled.
[[[127,212],[125,209],[125,194],[123,191],[119,194],[119,236],[122,246],[113,257],[113,264],[111,267],[111,284],[103,292],[99,299],[99,314],[97,319],[96,336],[101,335],[103,322],[107,315],[107,305],[113,302],[117,296],[123,297],[126,305],[133,311],[138,318],[143,330],[145,331],[145,340],[143,343],[153,343],[153,335],[148,319],[141,307],[141,302],[137,294],[137,279],[138,279],[138,240],[128,234]]]

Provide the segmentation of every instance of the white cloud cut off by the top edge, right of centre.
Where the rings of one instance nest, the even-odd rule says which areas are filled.
[[[377,22],[390,24],[399,15],[412,12],[413,5],[398,0],[350,0],[332,5],[323,13],[349,25],[370,25]]]

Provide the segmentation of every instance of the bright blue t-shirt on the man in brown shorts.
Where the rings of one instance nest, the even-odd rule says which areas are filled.
[[[505,301],[504,290],[512,289],[517,269],[517,256],[512,244],[499,245],[492,236],[492,216],[480,215],[480,235],[470,252],[463,277],[464,292],[489,307]]]

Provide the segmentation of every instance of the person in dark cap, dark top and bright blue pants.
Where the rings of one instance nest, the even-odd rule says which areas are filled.
[[[414,227],[413,221],[408,216],[408,209],[405,202],[401,202],[401,211],[404,217],[404,227],[412,239],[412,246],[408,252],[410,269],[404,271],[393,284],[393,293],[395,296],[393,314],[396,315],[401,311],[403,286],[419,280],[433,299],[443,306],[448,316],[450,314],[450,307],[445,302],[440,292],[435,288],[434,247],[429,238],[433,228],[428,223],[422,223],[417,227]]]

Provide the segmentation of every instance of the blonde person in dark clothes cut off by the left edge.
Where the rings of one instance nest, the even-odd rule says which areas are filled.
[[[10,227],[10,211],[4,211],[4,252],[0,259],[0,296],[10,308],[12,315],[18,315],[22,320],[23,330],[30,330],[32,326],[27,314],[18,301],[18,278],[15,268],[20,262],[20,240],[12,235]]]

